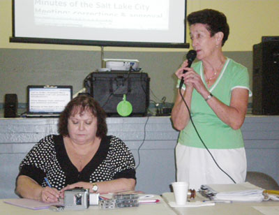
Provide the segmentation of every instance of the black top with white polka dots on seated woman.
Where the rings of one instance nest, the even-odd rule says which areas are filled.
[[[61,135],[48,135],[29,151],[20,163],[20,174],[27,175],[41,186],[61,190],[67,184],[78,181],[110,181],[119,178],[135,178],[135,160],[126,144],[115,136],[106,136],[92,160],[78,172],[71,163]]]

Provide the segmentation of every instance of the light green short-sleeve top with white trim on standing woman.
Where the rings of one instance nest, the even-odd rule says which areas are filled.
[[[192,67],[202,77],[202,81],[205,84],[202,61],[198,61]],[[249,89],[247,68],[227,58],[223,70],[216,82],[209,88],[209,91],[213,96],[216,96],[216,98],[225,103],[225,105],[229,105],[232,90],[235,88],[248,89],[249,96],[252,96],[252,92]],[[185,85],[183,85],[183,89],[185,89]],[[193,90],[190,110],[197,131],[206,147],[209,149],[236,149],[244,147],[241,130],[234,130],[223,123],[195,89]],[[180,132],[179,142],[190,147],[204,148],[190,121],[186,128]]]

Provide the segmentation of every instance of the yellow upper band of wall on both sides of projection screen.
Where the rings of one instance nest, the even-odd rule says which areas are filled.
[[[223,48],[226,52],[252,51],[252,45],[259,43],[262,36],[279,35],[279,0],[188,0],[187,2],[187,13],[204,8],[213,8],[227,15],[231,33]],[[0,48],[100,50],[100,47],[92,46],[9,43],[10,36],[12,36],[12,0],[0,0]],[[190,42],[189,39],[188,42]],[[105,50],[186,51],[184,49],[130,47],[105,47]]]

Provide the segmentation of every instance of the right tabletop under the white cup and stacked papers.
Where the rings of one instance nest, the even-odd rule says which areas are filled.
[[[173,193],[163,193],[163,199],[165,202],[174,202]],[[199,193],[195,200],[204,199]],[[254,207],[276,207],[279,210],[279,201],[265,201],[265,202],[233,202],[233,203],[216,203],[214,206],[204,206],[204,207],[172,207],[176,214],[206,214],[206,215],[263,215]],[[276,211],[278,212],[278,211]]]

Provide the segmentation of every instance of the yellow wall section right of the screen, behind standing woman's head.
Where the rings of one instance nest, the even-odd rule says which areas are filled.
[[[204,8],[227,16],[230,34],[223,50],[252,51],[262,36],[279,36],[279,0],[190,0],[188,13]]]

